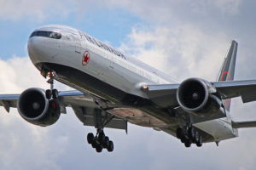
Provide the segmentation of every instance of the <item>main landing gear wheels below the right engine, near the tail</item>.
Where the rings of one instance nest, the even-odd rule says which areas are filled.
[[[198,147],[202,146],[202,136],[195,127],[181,128],[178,127],[176,131],[177,139],[180,139],[187,148],[191,146],[192,143],[196,144]]]

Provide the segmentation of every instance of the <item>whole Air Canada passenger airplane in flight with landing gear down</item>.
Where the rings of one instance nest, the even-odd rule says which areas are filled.
[[[256,100],[256,80],[234,81],[238,43],[232,41],[216,82],[191,77],[177,82],[165,73],[70,26],[42,26],[32,31],[27,51],[47,79],[49,89],[28,88],[0,94],[0,105],[34,125],[54,124],[71,107],[84,126],[96,127],[87,142],[97,152],[113,151],[104,128],[123,129],[128,122],[169,133],[185,145],[231,139],[238,128],[256,121],[234,122],[232,98]],[[74,88],[58,91],[54,82]]]

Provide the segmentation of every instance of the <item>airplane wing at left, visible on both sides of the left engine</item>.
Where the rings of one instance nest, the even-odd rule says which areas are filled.
[[[0,94],[0,106],[9,112],[11,107],[17,107],[20,94]],[[96,105],[95,97],[84,94],[78,90],[59,92],[58,101],[61,105],[61,113],[67,113],[66,107],[71,107],[85,126],[96,127],[99,124],[108,122],[106,127],[124,129],[127,131],[127,122],[108,111],[102,112]],[[105,121],[105,122],[104,122]]]

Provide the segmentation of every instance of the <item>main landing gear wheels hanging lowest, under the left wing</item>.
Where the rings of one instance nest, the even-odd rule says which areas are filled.
[[[109,152],[113,151],[113,141],[109,140],[102,129],[97,130],[96,136],[93,133],[88,133],[87,141],[96,149],[96,152],[102,152],[104,148]]]

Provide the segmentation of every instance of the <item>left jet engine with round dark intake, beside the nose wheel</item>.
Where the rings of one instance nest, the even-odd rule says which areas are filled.
[[[61,115],[56,99],[46,99],[44,89],[28,88],[20,94],[17,108],[27,122],[46,127],[54,124]]]

